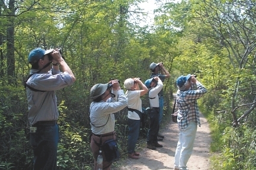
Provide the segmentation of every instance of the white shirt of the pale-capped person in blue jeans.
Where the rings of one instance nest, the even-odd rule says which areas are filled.
[[[140,99],[140,90],[127,90],[126,99],[128,102],[128,108],[136,109],[142,112],[142,100]],[[128,118],[133,120],[140,120],[139,115],[136,112],[128,110]]]

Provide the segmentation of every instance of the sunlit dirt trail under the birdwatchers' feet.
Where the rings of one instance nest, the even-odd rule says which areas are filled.
[[[209,125],[200,113],[201,128],[197,128],[196,141],[194,143],[193,153],[188,160],[188,169],[190,170],[210,170],[209,165],[209,148],[210,148],[210,129]],[[174,154],[178,142],[177,123],[169,121],[161,133],[165,136],[162,142],[163,148],[142,149],[139,159],[126,158],[120,162],[121,166],[113,169],[174,169]],[[146,142],[146,139],[145,139]]]

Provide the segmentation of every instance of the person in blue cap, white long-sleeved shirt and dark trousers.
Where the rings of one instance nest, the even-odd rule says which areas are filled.
[[[162,90],[163,84],[159,77],[153,77],[145,81],[145,86],[149,89],[149,103],[151,108],[149,110],[149,118],[151,120],[147,148],[155,150],[156,148],[162,148],[162,145],[158,143],[159,132],[159,98],[158,93]]]

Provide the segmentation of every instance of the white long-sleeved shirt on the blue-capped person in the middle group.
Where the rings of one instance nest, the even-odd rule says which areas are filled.
[[[162,84],[162,81],[161,81],[161,79],[158,79],[157,86],[149,89],[149,103],[151,104],[151,107],[159,107],[158,93],[159,93],[159,91],[162,90],[162,87],[164,87]]]

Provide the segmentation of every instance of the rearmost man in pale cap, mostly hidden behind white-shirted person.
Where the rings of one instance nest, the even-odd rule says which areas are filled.
[[[169,74],[169,72],[165,69],[164,64],[163,63],[151,63],[149,66],[149,69],[152,71],[151,77],[159,77],[161,79],[162,82],[164,82],[165,79],[169,79],[169,77],[171,77],[171,75]],[[160,73],[159,73],[160,72]],[[158,97],[159,97],[159,125],[162,122],[162,116],[163,116],[163,112],[164,112],[164,91],[161,90],[158,93]],[[162,140],[162,138],[164,138],[164,135],[158,133],[158,137],[160,137],[158,140]]]

